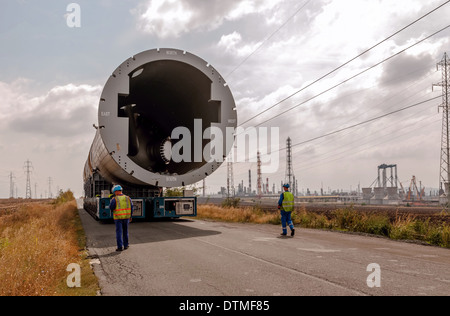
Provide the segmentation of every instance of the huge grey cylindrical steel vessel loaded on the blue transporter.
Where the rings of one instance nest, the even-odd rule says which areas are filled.
[[[232,142],[225,137],[237,125],[234,98],[222,76],[203,59],[177,49],[145,51],[122,63],[104,87],[98,117],[85,183],[94,175],[133,186],[196,183],[223,163],[204,154],[211,128],[222,132],[226,157]],[[190,138],[174,138],[174,130],[189,132]],[[177,153],[181,161],[172,152],[179,142],[185,144]]]

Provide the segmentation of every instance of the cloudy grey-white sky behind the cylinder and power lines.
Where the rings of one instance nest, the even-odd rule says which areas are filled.
[[[382,61],[447,27],[450,4],[276,104],[446,1],[79,0],[81,25],[70,28],[71,2],[2,1],[0,197],[9,197],[11,172],[25,195],[27,159],[33,197],[35,185],[46,197],[49,178],[53,194],[70,188],[80,196],[106,80],[130,56],[158,47],[213,65],[243,127],[279,127],[281,148],[287,137],[300,144],[293,150],[300,191],[370,186],[383,163],[398,165],[404,186],[415,175],[438,187],[441,99],[310,140],[439,97],[432,84],[442,80],[436,64],[450,52],[449,28]],[[270,187],[284,179],[284,150],[279,159],[278,172],[263,175]],[[256,183],[256,165],[239,163],[236,184],[248,184],[249,169]],[[207,179],[209,193],[225,185],[226,168]]]

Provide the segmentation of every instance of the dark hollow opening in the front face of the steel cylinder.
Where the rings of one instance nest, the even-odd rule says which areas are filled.
[[[151,172],[178,175],[205,165],[204,158],[195,161],[194,121],[202,120],[203,149],[209,142],[203,140],[204,130],[220,123],[221,102],[211,100],[211,80],[197,68],[172,60],[145,64],[129,77],[130,93],[118,96],[118,113],[129,118],[130,159]],[[177,127],[191,132],[192,150],[191,159],[175,163],[171,148],[181,140],[170,137]]]

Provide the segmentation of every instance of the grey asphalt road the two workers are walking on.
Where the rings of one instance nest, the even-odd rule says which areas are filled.
[[[132,223],[131,246],[117,253],[114,225],[80,216],[105,296],[450,295],[448,249],[301,228],[286,238],[273,225],[184,219]]]

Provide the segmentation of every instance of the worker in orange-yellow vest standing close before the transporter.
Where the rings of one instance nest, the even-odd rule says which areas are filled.
[[[122,191],[123,188],[120,185],[114,186],[112,189],[114,197],[109,204],[109,209],[113,213],[116,224],[116,251],[126,250],[129,247],[128,225],[133,216],[133,202]]]

